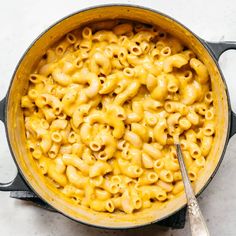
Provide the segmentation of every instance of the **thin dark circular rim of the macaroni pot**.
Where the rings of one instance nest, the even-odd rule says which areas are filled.
[[[232,112],[232,109],[231,109],[231,103],[230,103],[230,97],[229,97],[229,91],[228,91],[228,87],[227,87],[227,84],[225,82],[225,79],[224,79],[224,76],[223,76],[223,73],[219,67],[219,64],[218,64],[218,61],[216,60],[213,52],[210,50],[210,48],[208,47],[208,44],[207,44],[207,41],[205,41],[204,39],[200,38],[199,36],[197,36],[195,33],[193,33],[188,27],[186,27],[185,25],[183,25],[182,23],[180,23],[179,21],[175,20],[173,17],[170,17],[168,16],[167,14],[164,14],[156,9],[153,9],[153,8],[150,8],[150,7],[146,7],[146,6],[141,6],[141,5],[138,5],[138,4],[125,4],[125,3],[111,3],[111,4],[101,4],[101,5],[95,5],[95,6],[90,6],[90,7],[86,7],[86,8],[83,8],[81,10],[78,10],[74,13],[71,13],[59,20],[57,20],[55,23],[51,24],[49,27],[47,27],[46,30],[44,30],[42,33],[40,33],[36,39],[33,40],[33,42],[29,45],[29,47],[25,50],[25,52],[23,53],[23,55],[21,56],[20,60],[18,61],[16,67],[15,67],[15,70],[13,72],[13,75],[11,77],[11,81],[10,81],[10,84],[9,84],[9,88],[7,90],[7,94],[6,94],[6,97],[5,97],[5,108],[4,108],[4,113],[5,113],[5,131],[6,131],[6,137],[7,137],[7,142],[8,142],[8,146],[9,146],[9,149],[10,149],[10,152],[11,152],[11,155],[12,155],[12,158],[16,164],[16,167],[17,167],[17,170],[18,172],[21,174],[21,176],[23,177],[24,181],[26,182],[26,184],[30,187],[30,189],[44,202],[46,202],[50,207],[52,207],[53,209],[55,209],[58,213],[66,216],[67,218],[77,222],[77,223],[81,223],[81,224],[84,224],[84,225],[87,225],[87,226],[92,226],[92,227],[95,227],[95,228],[99,228],[99,229],[108,229],[108,230],[122,230],[122,229],[134,229],[134,228],[143,228],[143,227],[146,227],[146,226],[149,226],[151,224],[154,224],[154,223],[157,223],[157,222],[160,222],[168,217],[170,217],[171,215],[174,215],[175,213],[177,213],[178,211],[182,210],[184,207],[186,207],[186,203],[178,208],[177,210],[169,213],[168,215],[162,217],[162,218],[159,218],[157,220],[154,220],[154,221],[151,221],[151,222],[147,222],[147,223],[144,223],[144,224],[141,224],[141,225],[130,225],[130,226],[111,226],[111,227],[108,227],[108,226],[101,226],[101,225],[95,225],[95,224],[92,224],[92,223],[89,223],[89,222],[85,222],[85,221],[82,221],[82,220],[78,220],[78,219],[75,219],[73,218],[72,216],[69,216],[67,215],[66,213],[64,213],[63,211],[61,210],[58,210],[56,208],[54,208],[48,201],[46,201],[43,197],[41,197],[35,190],[34,188],[32,187],[31,183],[27,180],[27,178],[24,176],[24,172],[21,170],[20,166],[18,165],[17,161],[16,161],[16,157],[14,155],[14,152],[13,152],[13,149],[12,149],[12,146],[10,144],[10,136],[9,136],[9,133],[8,133],[8,119],[7,119],[7,108],[8,108],[8,99],[9,99],[9,94],[10,94],[10,90],[11,90],[11,87],[12,87],[12,84],[13,84],[13,81],[15,79],[15,75],[18,71],[18,68],[21,64],[21,62],[23,61],[23,59],[25,58],[25,56],[27,55],[27,53],[29,52],[29,50],[32,48],[32,46],[38,42],[41,37],[47,33],[49,30],[51,30],[53,27],[55,27],[56,25],[58,25],[59,23],[63,22],[64,20],[74,16],[74,15],[77,15],[81,12],[85,12],[85,11],[89,11],[89,10],[93,10],[93,9],[98,9],[98,8],[109,8],[109,7],[130,7],[130,8],[138,8],[138,9],[142,9],[142,10],[147,10],[147,11],[150,11],[150,12],[153,12],[155,14],[159,14],[161,16],[164,16],[174,22],[176,22],[178,25],[180,25],[181,27],[183,27],[185,30],[187,30],[189,33],[191,33],[191,35],[193,35],[199,42],[200,44],[204,47],[204,49],[209,53],[209,55],[211,56],[211,58],[213,59],[215,65],[217,66],[217,69],[219,71],[219,74],[220,74],[220,77],[225,85],[225,92],[226,92],[226,96],[227,96],[227,103],[228,103],[228,128],[227,128],[227,134],[226,134],[226,140],[225,140],[225,144],[224,144],[224,148],[222,150],[222,154],[221,154],[221,157],[217,163],[217,166],[216,168],[214,169],[212,175],[210,176],[210,178],[208,179],[208,181],[205,183],[205,185],[202,187],[202,189],[198,192],[198,194],[196,194],[196,197],[198,197],[205,189],[206,187],[208,186],[208,184],[211,182],[211,180],[213,179],[213,177],[215,176],[216,172],[218,171],[218,168],[224,158],[224,155],[225,155],[225,151],[226,151],[226,148],[227,148],[227,145],[228,145],[228,142],[229,142],[229,135],[230,135],[230,129],[231,129],[231,112]]]

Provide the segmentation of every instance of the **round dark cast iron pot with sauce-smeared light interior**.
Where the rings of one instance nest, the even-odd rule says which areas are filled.
[[[0,102],[0,119],[5,124],[8,144],[18,169],[18,176],[7,184],[0,184],[1,191],[27,189],[25,183],[46,203],[58,212],[78,222],[92,226],[121,229],[148,225],[160,221],[180,210],[186,200],[184,194],[164,207],[153,206],[132,215],[98,213],[80,206],[73,206],[44,181],[26,150],[21,96],[26,93],[28,75],[46,50],[69,31],[90,22],[107,19],[129,19],[160,26],[180,38],[208,67],[212,78],[216,106],[216,133],[207,165],[195,184],[197,194],[201,193],[215,175],[226,150],[229,138],[236,133],[236,114],[230,107],[229,94],[218,65],[220,55],[228,49],[236,49],[236,42],[207,42],[174,19],[153,9],[129,5],[105,5],[86,9],[59,21],[43,34],[26,51],[16,67],[6,97]],[[22,176],[23,179],[19,178]]]

